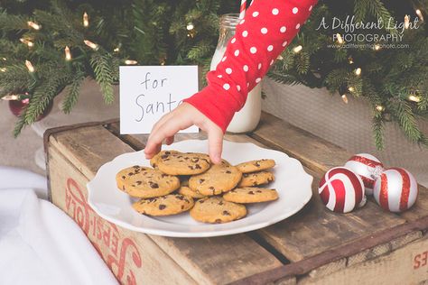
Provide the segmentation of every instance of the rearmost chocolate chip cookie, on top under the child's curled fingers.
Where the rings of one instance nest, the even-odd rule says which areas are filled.
[[[164,152],[159,156],[157,167],[170,175],[195,175],[209,170],[209,156],[192,152]]]

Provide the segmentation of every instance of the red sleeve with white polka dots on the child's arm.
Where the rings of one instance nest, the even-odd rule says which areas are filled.
[[[247,94],[299,31],[316,0],[254,0],[223,59],[207,73],[209,85],[184,100],[226,132]]]

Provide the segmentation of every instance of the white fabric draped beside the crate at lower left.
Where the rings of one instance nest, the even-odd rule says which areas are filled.
[[[117,284],[42,176],[0,166],[0,284]]]

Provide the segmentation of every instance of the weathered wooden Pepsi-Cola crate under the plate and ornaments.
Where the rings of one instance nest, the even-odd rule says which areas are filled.
[[[352,153],[264,114],[254,133],[227,140],[254,142],[299,159],[314,177],[313,198],[298,214],[247,234],[171,238],[107,222],[87,203],[86,183],[124,152],[144,148],[145,135],[120,135],[117,121],[48,130],[45,151],[51,201],[82,228],[124,284],[419,284],[428,280],[428,191],[395,215],[372,200],[349,214],[326,209],[321,175]],[[180,134],[176,141],[205,138]]]

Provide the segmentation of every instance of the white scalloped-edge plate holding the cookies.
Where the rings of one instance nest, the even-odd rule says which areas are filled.
[[[179,152],[206,152],[208,142],[188,140],[176,142],[165,149]],[[116,188],[116,173],[135,164],[149,166],[144,152],[119,155],[98,170],[88,182],[88,204],[99,216],[116,225],[136,232],[179,237],[206,237],[238,234],[272,225],[297,213],[312,197],[312,176],[302,163],[283,152],[267,150],[250,142],[228,142],[223,145],[222,157],[232,164],[259,159],[274,159],[275,180],[269,188],[276,188],[279,198],[273,202],[248,205],[246,217],[226,224],[203,224],[191,218],[189,213],[175,216],[144,216],[131,207],[135,198]]]

